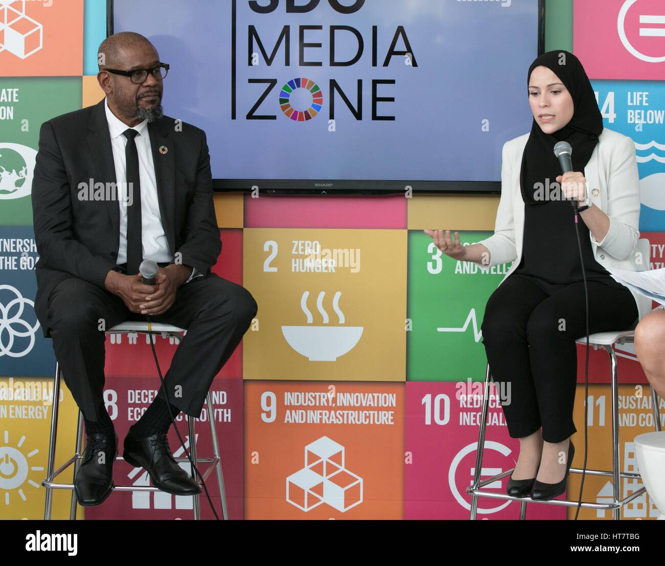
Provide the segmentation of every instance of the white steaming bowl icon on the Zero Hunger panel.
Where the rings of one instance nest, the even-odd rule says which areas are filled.
[[[355,347],[362,336],[362,326],[329,326],[330,317],[323,306],[325,291],[317,296],[317,310],[321,314],[323,326],[312,326],[314,316],[307,306],[309,291],[303,292],[300,308],[307,317],[307,326],[282,326],[282,334],[289,345],[309,361],[336,361],[336,359]],[[344,313],[339,308],[341,291],[332,297],[332,310],[337,315],[339,324],[344,324]]]

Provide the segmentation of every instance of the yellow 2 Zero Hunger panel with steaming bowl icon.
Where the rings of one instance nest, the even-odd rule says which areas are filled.
[[[243,230],[245,379],[405,381],[406,230]]]

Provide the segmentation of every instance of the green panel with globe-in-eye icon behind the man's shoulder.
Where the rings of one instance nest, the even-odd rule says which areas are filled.
[[[6,89],[18,89],[18,92],[15,95],[13,90]],[[15,97],[17,102],[13,100]],[[28,188],[32,184],[34,155],[39,147],[39,129],[43,122],[78,110],[81,104],[80,77],[0,78],[0,225],[32,225],[30,195],[17,198],[12,196],[12,189]],[[19,144],[19,147],[7,147],[7,143]],[[15,171],[15,165],[11,165],[11,170],[3,168],[3,159],[7,159],[10,165],[17,159],[21,164],[25,163],[26,180],[15,179],[17,173],[24,174]]]

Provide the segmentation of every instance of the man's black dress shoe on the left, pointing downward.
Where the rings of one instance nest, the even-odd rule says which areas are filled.
[[[86,434],[86,445],[74,476],[78,504],[92,507],[104,502],[113,491],[113,462],[118,456],[118,434]]]

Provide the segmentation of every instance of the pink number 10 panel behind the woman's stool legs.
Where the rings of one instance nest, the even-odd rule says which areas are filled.
[[[463,385],[467,387],[467,383]],[[430,395],[429,401],[426,395]],[[469,518],[471,496],[466,488],[473,480],[482,407],[480,396],[469,395],[466,400],[457,395],[457,382],[406,382],[404,452],[407,458],[411,453],[412,461],[404,464],[404,519]],[[439,407],[436,412],[435,405]],[[428,407],[430,424],[426,422]],[[503,410],[490,403],[489,417],[503,423]],[[481,479],[487,479],[515,467],[519,440],[510,438],[505,424],[488,424],[483,454]],[[506,484],[507,478],[503,478],[487,488],[505,493]],[[519,519],[519,506],[518,502],[480,498],[477,519]],[[563,506],[527,505],[527,519],[565,518]]]

